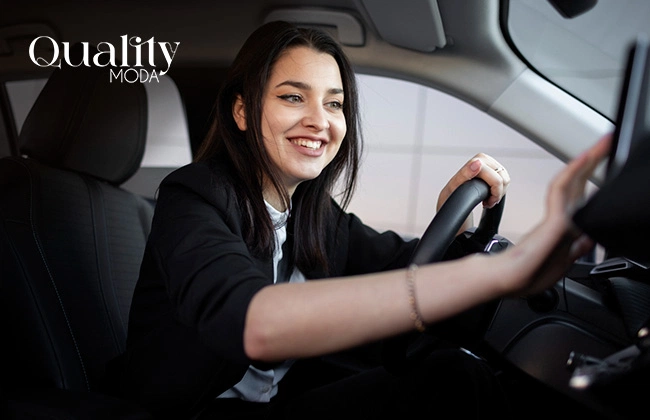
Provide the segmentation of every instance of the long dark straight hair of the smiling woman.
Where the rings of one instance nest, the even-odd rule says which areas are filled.
[[[332,162],[318,177],[298,185],[290,199],[264,147],[262,98],[277,59],[289,48],[297,46],[327,53],[336,60],[343,82],[343,114],[347,131]],[[246,109],[247,129],[243,132],[232,115],[238,95]],[[231,165],[232,182],[235,183],[246,225],[244,240],[248,248],[257,257],[273,254],[274,226],[262,196],[266,179],[278,191],[286,208],[291,208],[290,223],[297,244],[293,247],[292,261],[305,273],[312,270],[327,273],[329,264],[325,244],[335,229],[332,225],[335,215],[331,213],[336,207],[332,206],[332,195],[334,189],[339,188],[339,204],[343,209],[347,207],[356,185],[362,153],[356,79],[340,45],[321,30],[301,28],[287,22],[270,22],[259,27],[246,40],[230,67],[219,90],[214,112],[212,126],[195,160],[225,159]]]

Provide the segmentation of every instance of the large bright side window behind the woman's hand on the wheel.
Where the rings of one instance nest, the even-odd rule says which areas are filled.
[[[546,188],[564,163],[502,122],[415,83],[359,75],[365,155],[349,211],[382,231],[420,236],[438,194],[478,152],[510,173],[499,233],[514,243],[543,216]],[[478,223],[482,207],[474,210]]]

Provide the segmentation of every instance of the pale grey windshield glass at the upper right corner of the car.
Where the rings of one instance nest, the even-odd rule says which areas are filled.
[[[570,17],[554,3],[588,10]],[[628,48],[638,34],[650,34],[650,1],[511,0],[507,24],[534,69],[614,120]]]

